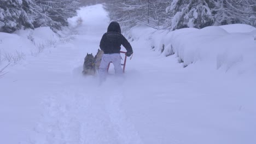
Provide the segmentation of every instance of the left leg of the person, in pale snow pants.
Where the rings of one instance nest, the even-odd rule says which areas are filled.
[[[98,70],[98,74],[100,76],[100,81],[106,80],[107,77],[107,69],[108,64],[111,62],[111,59],[109,58],[109,54],[104,54],[101,59],[100,68]]]

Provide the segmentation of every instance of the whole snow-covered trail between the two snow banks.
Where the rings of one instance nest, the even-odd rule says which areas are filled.
[[[109,75],[98,86],[97,77],[83,76],[83,58],[95,55],[109,19],[101,5],[82,14],[71,43],[28,59],[1,79],[1,92],[8,93],[0,97],[6,115],[1,143],[256,142],[253,80],[196,65],[184,69],[176,58],[150,51],[147,40],[131,42],[124,81]],[[10,107],[13,112],[4,113]]]

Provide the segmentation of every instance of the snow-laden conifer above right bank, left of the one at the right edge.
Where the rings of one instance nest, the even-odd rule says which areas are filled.
[[[208,0],[173,0],[166,8],[171,19],[167,19],[165,26],[171,30],[211,26],[214,23],[211,8],[214,3]]]

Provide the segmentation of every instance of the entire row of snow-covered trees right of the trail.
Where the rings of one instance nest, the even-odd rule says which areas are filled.
[[[231,23],[256,26],[255,0],[112,0],[106,1],[106,10],[124,29],[138,24],[170,30]]]

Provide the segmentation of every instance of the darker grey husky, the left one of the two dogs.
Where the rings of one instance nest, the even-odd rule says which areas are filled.
[[[95,75],[95,59],[92,53],[91,54],[87,53],[86,57],[84,58],[83,74]]]

